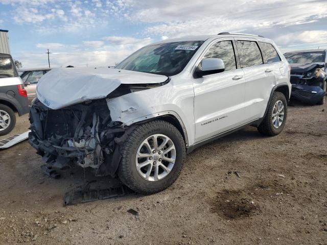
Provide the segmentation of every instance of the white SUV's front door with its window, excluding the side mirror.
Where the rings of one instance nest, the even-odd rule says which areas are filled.
[[[225,70],[194,79],[196,142],[244,124],[245,78],[235,48],[232,40],[218,41],[202,58],[222,59]]]

